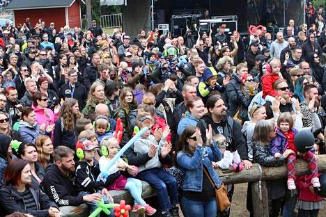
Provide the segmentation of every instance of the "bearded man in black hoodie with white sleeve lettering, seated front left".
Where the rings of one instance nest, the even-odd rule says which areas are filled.
[[[41,183],[45,193],[56,202],[59,207],[79,206],[84,202],[99,202],[102,200],[100,193],[77,195],[77,187],[72,182],[75,175],[74,151],[69,147],[59,145],[54,150],[54,163],[45,170],[45,177]],[[63,213],[62,213],[63,214]],[[63,214],[63,216],[65,216]]]

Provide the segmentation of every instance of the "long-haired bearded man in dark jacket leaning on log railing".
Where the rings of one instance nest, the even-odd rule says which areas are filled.
[[[210,125],[212,127],[213,138],[217,134],[224,135],[226,138],[226,150],[230,152],[238,151],[242,163],[244,164],[244,168],[249,170],[252,163],[248,158],[247,144],[241,132],[241,124],[226,115],[226,106],[223,99],[219,95],[212,95],[209,97],[206,102],[206,108],[208,110],[208,114],[204,115],[201,121],[199,121],[197,124],[197,127],[201,129],[203,142],[205,143],[206,130]],[[233,185],[228,186],[228,198],[232,198],[233,189]],[[226,209],[221,214],[221,216],[229,215],[230,209]]]

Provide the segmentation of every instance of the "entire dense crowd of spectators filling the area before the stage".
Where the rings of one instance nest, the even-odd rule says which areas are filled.
[[[113,201],[130,191],[132,212],[230,216],[219,210],[216,170],[286,165],[267,182],[270,216],[318,216],[325,153],[325,12],[316,22],[243,40],[187,26],[185,35],[103,33],[42,19],[0,31],[1,216],[65,216],[66,206]],[[148,127],[123,156],[121,147]],[[313,145],[300,149],[306,130]],[[309,175],[295,175],[297,158]],[[111,163],[110,163],[111,162]],[[108,165],[113,165],[107,168]],[[141,180],[157,200],[142,198]],[[212,182],[211,182],[212,181]],[[325,186],[326,187],[326,186]],[[234,186],[226,186],[232,200]],[[251,189],[247,209],[253,215]],[[145,198],[146,199],[146,198]],[[181,210],[179,210],[179,208]],[[111,210],[111,215],[114,211]]]

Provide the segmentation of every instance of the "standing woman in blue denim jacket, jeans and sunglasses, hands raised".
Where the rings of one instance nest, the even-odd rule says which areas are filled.
[[[207,143],[212,141],[212,127],[206,131]],[[179,138],[177,164],[185,174],[181,191],[181,209],[185,217],[216,216],[217,202],[215,188],[221,186],[221,179],[215,172],[212,161],[222,159],[215,143],[205,145],[198,127],[188,126]],[[209,177],[208,177],[209,176]],[[215,184],[215,188],[210,183]]]

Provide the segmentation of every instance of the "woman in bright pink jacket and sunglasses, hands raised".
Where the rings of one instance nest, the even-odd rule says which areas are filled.
[[[56,122],[60,111],[59,106],[56,106],[54,112],[51,109],[47,109],[47,102],[48,99],[45,93],[37,92],[33,95],[32,109],[36,115],[36,122],[40,125],[45,124],[45,127]]]

